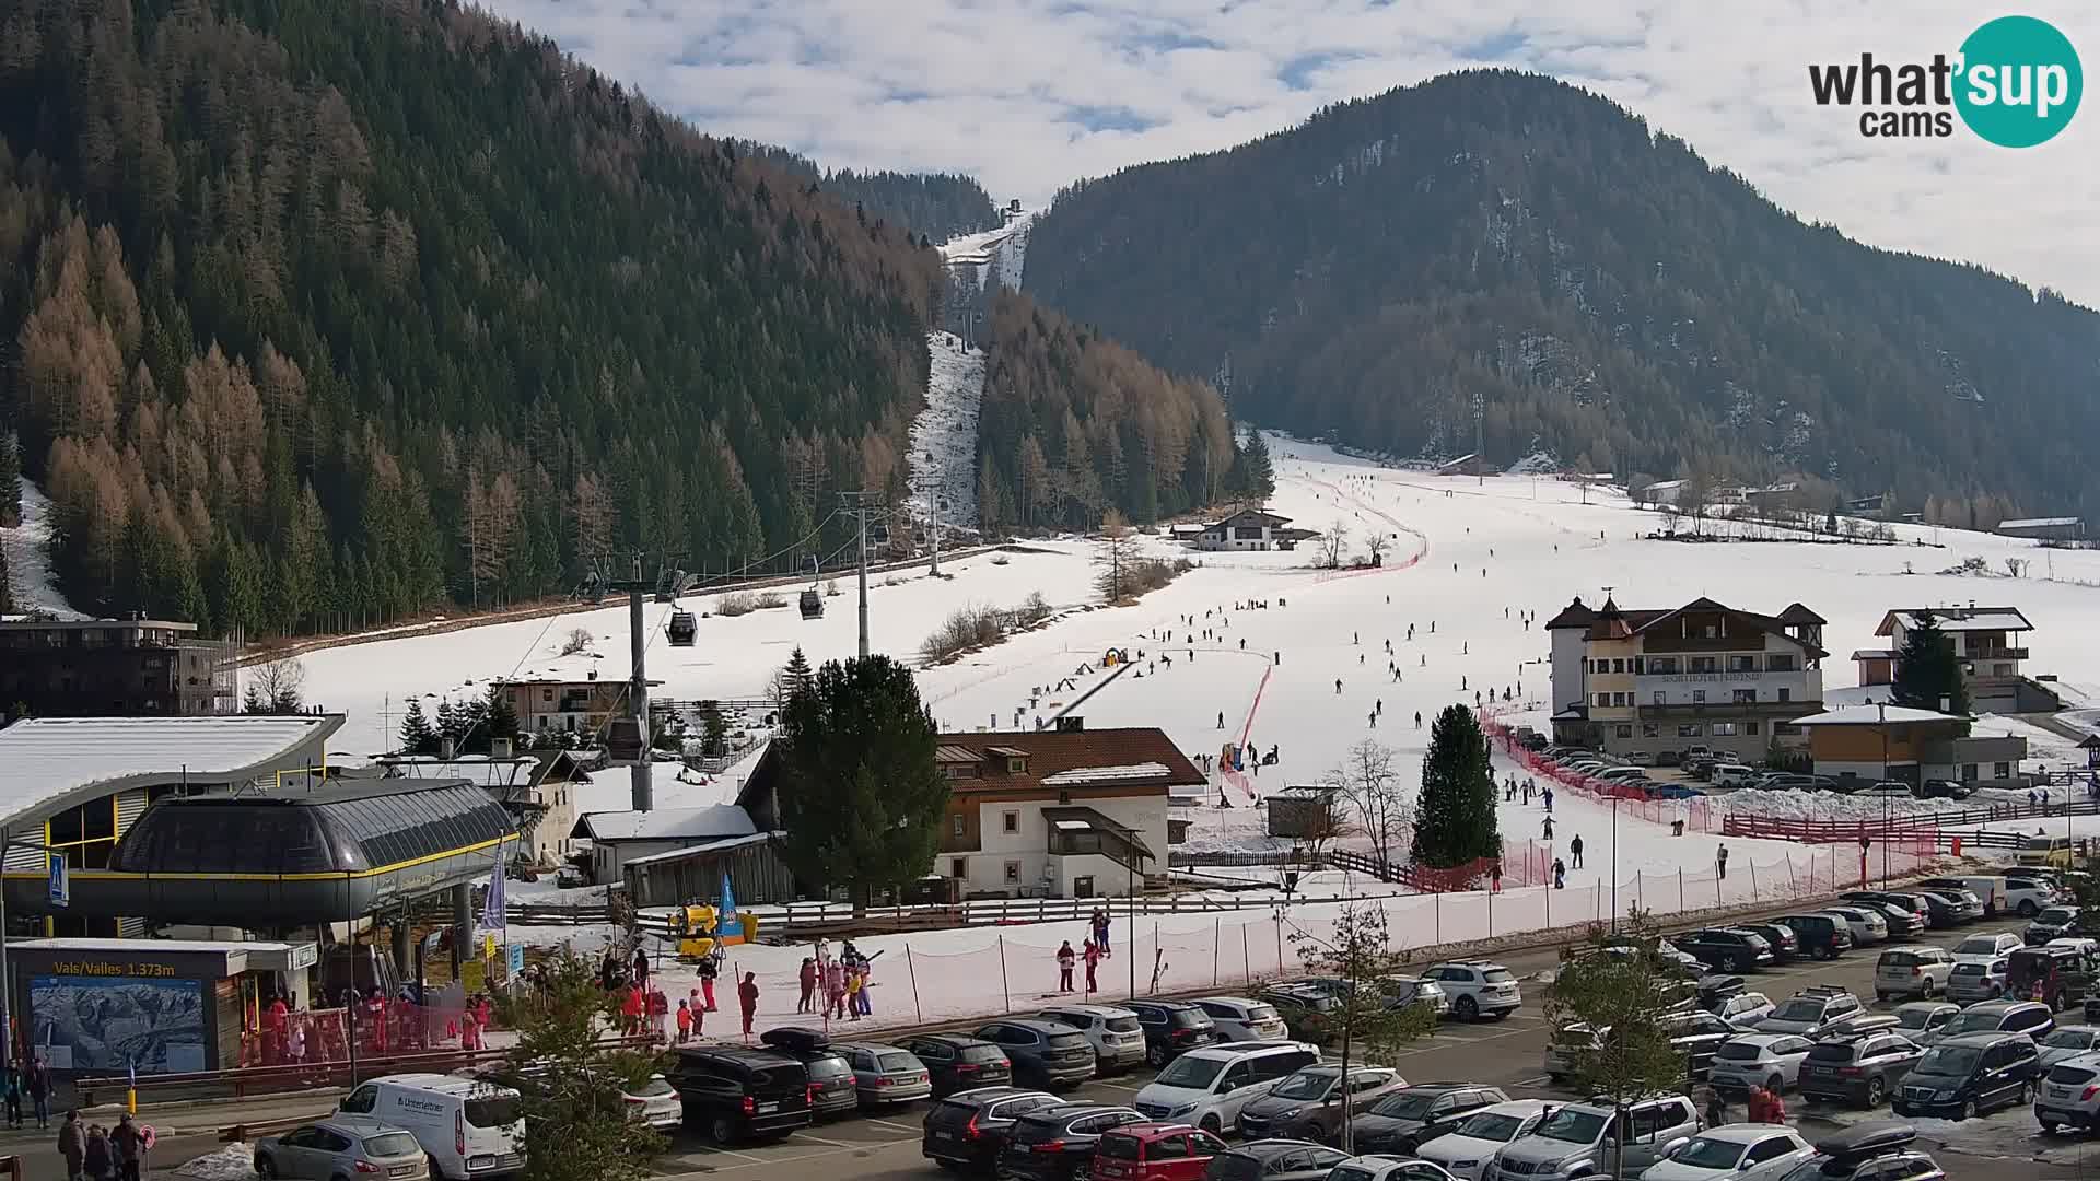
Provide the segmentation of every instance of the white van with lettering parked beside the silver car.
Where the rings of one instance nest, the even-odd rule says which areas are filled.
[[[525,1110],[517,1091],[452,1074],[388,1074],[336,1103],[407,1131],[430,1154],[430,1177],[468,1181],[525,1168]]]

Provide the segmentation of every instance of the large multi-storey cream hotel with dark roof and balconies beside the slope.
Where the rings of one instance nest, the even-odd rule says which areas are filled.
[[[1703,597],[1670,609],[1575,599],[1546,622],[1554,738],[1621,757],[1707,746],[1762,761],[1774,742],[1802,742],[1791,721],[1823,704],[1823,626],[1802,603],[1760,616]]]

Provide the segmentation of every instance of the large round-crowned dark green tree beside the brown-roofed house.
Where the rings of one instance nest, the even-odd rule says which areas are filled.
[[[932,868],[947,780],[909,668],[880,654],[825,662],[788,698],[779,742],[783,853],[796,878],[867,902]]]

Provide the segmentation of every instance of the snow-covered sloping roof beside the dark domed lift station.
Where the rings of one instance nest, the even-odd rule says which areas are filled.
[[[342,727],[342,714],[23,719],[0,729],[0,824],[130,780],[246,784]]]

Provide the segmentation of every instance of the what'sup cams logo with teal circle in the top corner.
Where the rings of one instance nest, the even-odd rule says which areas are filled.
[[[1858,61],[1810,65],[1819,107],[1861,107],[1869,139],[1949,137],[1955,116],[1999,147],[2035,147],[2064,130],[2079,109],[2085,76],[2071,38],[2035,17],[1980,25],[1953,57],[1930,63]]]

